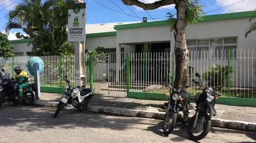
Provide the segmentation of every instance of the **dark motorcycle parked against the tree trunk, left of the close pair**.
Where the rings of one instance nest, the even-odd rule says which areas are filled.
[[[183,123],[186,123],[189,116],[190,104],[189,94],[186,91],[176,90],[171,88],[170,85],[162,83],[167,89],[169,88],[168,102],[167,102],[167,111],[164,116],[163,122],[163,132],[165,135],[168,135],[173,132],[177,122],[180,122],[183,126]],[[188,88],[188,86],[186,86]],[[172,120],[172,121],[170,121]]]

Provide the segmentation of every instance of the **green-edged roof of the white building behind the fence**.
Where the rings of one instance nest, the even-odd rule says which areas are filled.
[[[256,16],[252,11],[246,12],[236,12],[227,14],[215,14],[206,15],[203,17],[202,21],[213,21],[213,20],[223,20],[223,19],[234,19],[234,18],[246,18]],[[99,24],[87,24],[86,25],[86,37],[100,37],[100,36],[115,36],[116,30],[126,29],[126,28],[138,28],[138,27],[148,27],[148,26],[159,26],[170,24],[167,20],[158,21],[148,21],[148,22],[115,22],[115,23],[99,23]],[[21,40],[10,40],[9,43],[19,43],[19,42],[29,42],[30,39]]]

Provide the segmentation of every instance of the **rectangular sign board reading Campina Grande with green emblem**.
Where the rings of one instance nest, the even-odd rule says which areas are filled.
[[[71,4],[68,18],[68,42],[86,41],[86,3]]]

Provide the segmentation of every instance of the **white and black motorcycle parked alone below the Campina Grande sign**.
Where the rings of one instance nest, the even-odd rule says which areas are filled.
[[[74,88],[70,85],[67,76],[65,76],[65,79],[63,80],[68,83],[68,87],[57,105],[57,110],[55,111],[53,118],[56,118],[60,110],[63,110],[64,107],[67,109],[77,108],[79,113],[86,111],[89,105],[89,100],[91,100],[93,96],[93,89],[83,89],[84,86],[77,86]]]

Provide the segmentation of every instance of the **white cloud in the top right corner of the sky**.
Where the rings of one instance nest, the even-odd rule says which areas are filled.
[[[241,0],[216,0],[217,5],[220,7],[225,7]],[[222,13],[232,13],[232,12],[242,12],[242,11],[252,11],[256,9],[255,0],[245,0],[243,2],[228,6],[222,9]]]

